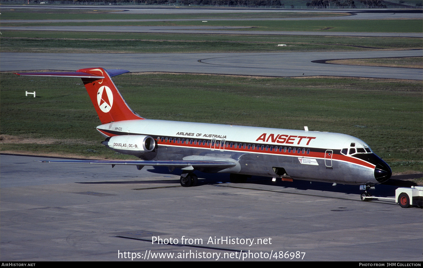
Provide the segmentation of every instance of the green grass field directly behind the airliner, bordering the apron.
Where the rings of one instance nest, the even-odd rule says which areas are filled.
[[[149,119],[345,133],[396,162],[394,172],[422,171],[421,81],[188,74],[113,80],[129,106]],[[99,143],[100,122],[78,79],[2,73],[0,87],[3,152],[126,157]],[[38,97],[25,97],[27,89]]]

